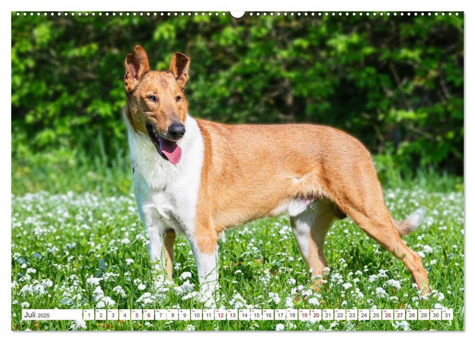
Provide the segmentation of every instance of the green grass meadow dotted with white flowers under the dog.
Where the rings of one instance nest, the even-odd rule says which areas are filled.
[[[112,172],[108,177],[113,177]],[[78,184],[74,175],[69,179]],[[130,179],[125,171],[124,179]],[[22,321],[22,307],[86,309],[108,302],[104,308],[203,308],[195,261],[184,238],[179,236],[175,244],[174,283],[157,283],[154,289],[145,230],[133,195],[118,194],[112,179],[105,182],[110,188],[102,191],[94,188],[94,182],[82,181],[89,184],[90,192],[81,192],[80,187],[68,192],[68,184],[61,182],[57,187],[63,186],[58,189],[63,194],[19,195],[18,188],[12,190],[12,330],[77,328],[71,321]],[[386,203],[396,219],[416,207],[426,208],[422,226],[404,237],[409,247],[424,255],[431,288],[425,298],[413,288],[402,263],[349,219],[336,222],[327,236],[330,272],[318,292],[308,289],[309,272],[286,216],[227,231],[219,243],[218,307],[447,307],[453,309],[453,321],[86,321],[85,329],[275,330],[281,323],[279,328],[285,330],[462,330],[462,189],[460,179],[448,176],[440,177],[440,182],[427,176],[426,182],[385,189]],[[191,278],[181,279],[184,272],[190,272]],[[88,282],[91,277],[99,279]],[[400,288],[390,279],[398,281]]]

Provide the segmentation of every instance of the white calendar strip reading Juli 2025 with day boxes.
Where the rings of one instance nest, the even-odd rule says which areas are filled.
[[[23,309],[50,321],[452,321],[453,309]]]

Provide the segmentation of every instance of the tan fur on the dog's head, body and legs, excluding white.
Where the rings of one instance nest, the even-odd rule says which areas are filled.
[[[136,130],[144,132],[145,122],[152,121],[165,132],[172,120],[183,122],[186,115],[183,85],[189,59],[175,54],[170,73],[148,71],[142,51],[136,47],[138,57],[128,56],[132,64],[141,61],[142,65],[131,69],[143,75],[129,83],[126,75],[127,117]],[[160,97],[155,107],[144,100],[150,93]],[[181,103],[175,101],[177,94],[183,97]],[[217,237],[226,228],[278,214],[279,208],[295,199],[305,199],[318,209],[312,218],[305,260],[313,276],[326,266],[323,242],[331,223],[348,215],[364,233],[401,259],[418,287],[427,293],[427,272],[419,256],[401,240],[385,206],[371,154],[360,141],[325,126],[197,122],[204,139],[194,230],[201,252],[212,254]],[[295,219],[298,217],[292,221]],[[402,233],[407,230],[404,224],[398,228]],[[168,244],[167,249],[171,248]]]

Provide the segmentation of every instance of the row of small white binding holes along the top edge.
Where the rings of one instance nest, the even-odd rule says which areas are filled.
[[[191,16],[212,16],[214,13],[215,16],[219,16],[220,14],[222,16],[226,16],[226,13],[225,12],[16,12],[16,15],[17,17],[21,16],[23,14],[24,17],[26,17],[27,15],[29,16],[34,16],[36,14],[36,16],[41,16],[43,14],[43,16],[86,16],[88,17],[89,15],[91,16],[147,16],[147,17],[150,17],[150,16],[154,16],[154,17],[178,17],[178,16],[181,16],[181,17],[184,17],[184,16],[188,16],[188,17],[191,17]],[[342,16],[346,16],[346,17],[349,17],[349,16],[372,16],[372,17],[376,17],[377,15],[379,16],[384,16],[386,15],[387,17],[389,16],[431,16],[432,14],[434,16],[438,16],[438,15],[441,15],[441,16],[445,16],[445,15],[448,15],[448,16],[452,16],[455,15],[455,16],[458,16],[459,15],[459,12],[263,12],[263,13],[260,13],[260,12],[247,12],[246,13],[247,15],[249,16],[253,16],[253,15],[256,15],[257,17],[259,16],[327,16],[327,17],[336,17],[336,16],[339,16],[339,17],[342,17]],[[231,15],[232,17],[232,15]]]

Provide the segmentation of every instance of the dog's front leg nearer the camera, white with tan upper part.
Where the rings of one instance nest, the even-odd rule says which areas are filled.
[[[198,268],[200,291],[206,299],[212,299],[218,287],[217,239],[210,236],[190,236],[188,240]]]

